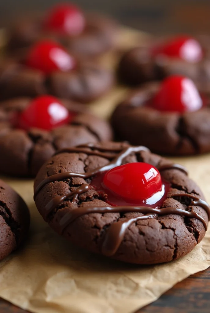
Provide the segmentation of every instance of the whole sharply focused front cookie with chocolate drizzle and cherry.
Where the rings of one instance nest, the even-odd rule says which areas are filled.
[[[128,166],[132,171],[122,177],[119,169]],[[136,167],[149,170],[137,173]],[[109,181],[113,171],[118,172]],[[121,198],[113,189],[105,189],[107,179],[115,188],[120,186]],[[143,191],[138,186],[138,182],[143,186],[141,181],[147,186]],[[139,204],[133,202],[139,193],[154,191],[160,181],[165,191],[158,205],[148,199],[145,204],[143,198]],[[58,151],[38,172],[34,199],[44,220],[69,241],[136,264],[168,262],[189,253],[204,237],[210,218],[200,188],[182,166],[143,146],[118,142]]]

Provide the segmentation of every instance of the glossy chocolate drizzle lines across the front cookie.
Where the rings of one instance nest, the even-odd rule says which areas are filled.
[[[63,149],[60,150],[58,153],[86,153],[89,155],[96,155],[96,156],[102,156],[107,159],[113,159],[110,161],[108,165],[105,165],[103,167],[96,168],[95,170],[87,173],[71,173],[71,172],[64,172],[64,173],[58,173],[55,175],[52,175],[50,177],[47,177],[42,181],[36,188],[34,192],[34,198],[37,196],[38,192],[49,182],[55,182],[58,180],[64,180],[72,177],[81,177],[84,179],[93,177],[97,175],[100,172],[108,171],[116,166],[119,166],[122,164],[123,159],[130,155],[131,153],[138,153],[141,151],[148,151],[147,148],[143,146],[139,147],[132,147],[129,146],[125,149],[110,149],[110,148],[105,148],[93,144],[88,144],[88,145],[82,145],[78,146],[76,148],[68,148],[68,149]],[[116,155],[117,153],[117,155]],[[158,170],[165,171],[169,169],[177,169],[182,172],[184,172],[187,175],[187,171],[184,167],[182,167],[179,164],[166,164],[158,167]],[[50,212],[52,212],[55,208],[57,208],[63,201],[67,199],[72,198],[72,203],[76,203],[77,198],[80,194],[83,194],[85,192],[88,192],[91,190],[91,186],[88,184],[82,184],[80,187],[75,189],[73,192],[70,192],[66,195],[63,196],[56,196],[54,199],[52,199],[45,207],[45,212],[46,215],[48,215]],[[199,199],[195,196],[192,196],[187,193],[181,193],[181,194],[175,194],[172,196],[173,198],[176,197],[189,197],[192,199],[190,206],[200,206],[202,207],[208,215],[208,219],[210,220],[210,207],[209,205],[202,199]],[[132,223],[137,223],[140,220],[145,220],[145,219],[151,219],[151,218],[156,218],[157,215],[166,215],[166,214],[178,214],[178,215],[183,215],[188,218],[197,218],[203,223],[203,226],[205,230],[207,230],[207,223],[202,218],[198,213],[192,212],[192,211],[187,211],[179,208],[172,208],[172,207],[167,207],[167,208],[151,208],[147,206],[141,206],[141,207],[133,207],[133,206],[116,206],[116,207],[85,207],[85,206],[79,206],[75,209],[71,209],[69,212],[67,212],[59,222],[59,232],[62,234],[64,233],[64,230],[66,227],[69,226],[76,218],[89,214],[89,213],[141,213],[145,214],[142,216],[138,216],[135,218],[120,218],[119,221],[112,223],[108,230],[106,231],[105,234],[105,239],[102,244],[102,253],[107,256],[112,256],[116,253],[117,249],[119,248],[126,229],[132,224]]]

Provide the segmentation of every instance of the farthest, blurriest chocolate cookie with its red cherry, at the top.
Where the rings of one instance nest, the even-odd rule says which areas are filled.
[[[116,46],[118,25],[111,18],[86,14],[72,3],[59,3],[44,16],[20,18],[8,30],[7,52],[21,54],[43,38],[54,38],[79,58],[93,58]]]

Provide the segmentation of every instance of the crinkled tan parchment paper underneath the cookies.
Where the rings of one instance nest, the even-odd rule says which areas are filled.
[[[92,105],[92,110],[107,117],[125,92],[115,88],[98,105]],[[187,167],[210,202],[210,155],[172,160]],[[41,218],[33,202],[32,180],[2,178],[24,198],[31,212],[26,244],[0,263],[0,297],[23,309],[39,313],[131,313],[178,281],[210,266],[210,228],[191,253],[156,266],[124,264],[79,249],[54,233]]]

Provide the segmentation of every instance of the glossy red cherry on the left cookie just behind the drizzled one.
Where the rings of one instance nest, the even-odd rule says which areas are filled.
[[[36,127],[45,130],[69,123],[72,116],[62,103],[55,97],[43,95],[31,101],[20,114],[18,128],[28,130]]]

